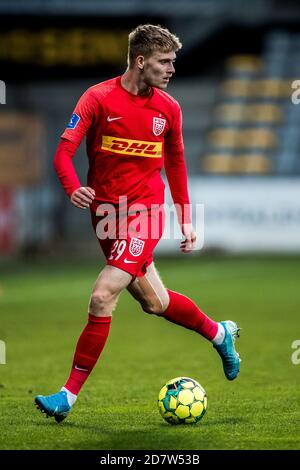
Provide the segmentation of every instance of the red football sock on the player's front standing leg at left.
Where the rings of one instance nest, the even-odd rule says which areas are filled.
[[[70,377],[64,385],[74,395],[78,395],[104,348],[110,322],[111,317],[89,315],[76,346]]]

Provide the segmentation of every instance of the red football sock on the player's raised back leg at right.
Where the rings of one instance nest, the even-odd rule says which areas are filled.
[[[201,312],[191,299],[171,290],[168,290],[168,294],[170,303],[162,314],[164,318],[189,330],[197,331],[210,341],[216,336],[218,323]]]

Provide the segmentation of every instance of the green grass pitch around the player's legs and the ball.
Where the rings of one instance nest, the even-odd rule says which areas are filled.
[[[0,449],[299,449],[300,259],[181,257],[159,260],[166,285],[217,320],[243,328],[241,373],[228,382],[211,345],[147,315],[126,292],[97,367],[69,418],[46,420],[37,393],[64,383],[99,267],[40,262],[2,267]],[[157,409],[162,385],[199,381],[208,409],[198,425],[171,426]]]

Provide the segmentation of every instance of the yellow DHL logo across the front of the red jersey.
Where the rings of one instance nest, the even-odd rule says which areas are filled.
[[[101,150],[108,150],[109,152],[121,153],[124,155],[160,158],[162,156],[162,142],[121,139],[118,137],[103,135]]]

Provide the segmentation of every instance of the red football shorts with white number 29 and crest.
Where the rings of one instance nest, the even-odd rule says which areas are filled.
[[[133,279],[144,276],[164,231],[163,206],[116,216],[97,216],[91,211],[91,217],[107,264],[126,271]]]

